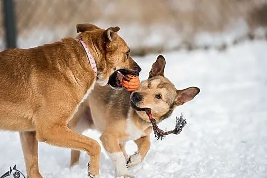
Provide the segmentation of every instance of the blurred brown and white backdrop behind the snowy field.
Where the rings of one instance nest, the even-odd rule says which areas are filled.
[[[13,10],[4,1],[14,1]],[[224,50],[267,39],[267,0],[1,0],[0,8],[14,13],[16,44],[23,48],[75,36],[76,24],[86,22],[119,26],[132,55]],[[0,50],[7,43],[4,17],[1,13]]]

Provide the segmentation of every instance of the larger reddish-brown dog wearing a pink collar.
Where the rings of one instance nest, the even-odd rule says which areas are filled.
[[[42,178],[38,141],[87,151],[90,176],[98,177],[98,142],[70,130],[67,123],[95,82],[121,88],[114,82],[118,70],[123,74],[140,72],[118,31],[119,27],[103,30],[79,24],[77,32],[81,33],[76,39],[0,52],[0,130],[20,132],[28,177]],[[85,47],[77,41],[80,38]],[[96,74],[86,48],[95,59]]]

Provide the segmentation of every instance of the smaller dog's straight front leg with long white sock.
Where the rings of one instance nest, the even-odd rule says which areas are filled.
[[[134,178],[129,174],[126,167],[126,159],[119,145],[119,139],[114,133],[103,133],[100,137],[100,140],[108,152],[114,167],[115,167],[115,176],[123,176],[125,178]]]

